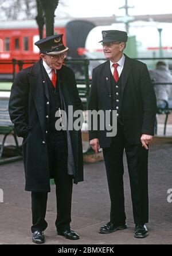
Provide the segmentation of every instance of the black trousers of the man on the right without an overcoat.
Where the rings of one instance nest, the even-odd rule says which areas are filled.
[[[132,209],[134,222],[143,224],[148,222],[148,150],[142,144],[127,144],[123,126],[118,123],[117,135],[112,138],[110,148],[103,149],[103,156],[107,172],[108,188],[111,198],[110,221],[116,225],[124,224],[126,214],[124,210],[123,188],[123,152],[126,152],[128,172],[130,176]]]

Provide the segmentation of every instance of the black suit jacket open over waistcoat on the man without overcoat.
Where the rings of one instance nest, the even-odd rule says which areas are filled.
[[[110,61],[92,73],[89,110],[112,110]],[[129,144],[139,144],[142,134],[154,135],[156,97],[146,64],[126,56],[122,76],[122,118]],[[89,131],[89,139],[99,138],[101,148],[111,145],[107,130]]]

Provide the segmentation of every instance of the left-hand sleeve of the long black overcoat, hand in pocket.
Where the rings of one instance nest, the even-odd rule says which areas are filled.
[[[13,82],[9,99],[9,114],[18,137],[26,137],[28,134],[28,97],[29,83],[25,73],[21,71]]]

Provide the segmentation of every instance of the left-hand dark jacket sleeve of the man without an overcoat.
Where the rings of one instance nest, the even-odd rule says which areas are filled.
[[[98,111],[98,95],[97,95],[97,74],[96,71],[92,72],[92,82],[91,88],[89,91],[89,100],[88,100],[88,110]],[[97,131],[93,130],[92,123],[89,124],[89,140],[93,140],[94,138],[99,138]]]

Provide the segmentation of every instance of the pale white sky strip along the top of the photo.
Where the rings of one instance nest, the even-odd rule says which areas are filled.
[[[61,0],[60,0],[61,1]],[[63,0],[65,6],[59,4],[58,12],[65,12],[72,17],[101,17],[101,16],[123,16],[124,10],[119,7],[124,6],[125,0]],[[128,0],[129,15],[165,14],[172,13],[171,0]]]

